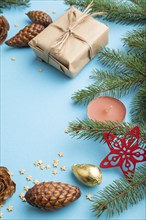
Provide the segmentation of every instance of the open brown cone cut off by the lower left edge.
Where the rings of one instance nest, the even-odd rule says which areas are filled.
[[[4,204],[16,190],[15,183],[11,180],[6,167],[0,167],[0,205]]]

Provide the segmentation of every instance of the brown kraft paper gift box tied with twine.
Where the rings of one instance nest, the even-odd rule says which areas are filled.
[[[74,77],[108,42],[108,27],[90,14],[72,7],[33,38],[37,57]]]

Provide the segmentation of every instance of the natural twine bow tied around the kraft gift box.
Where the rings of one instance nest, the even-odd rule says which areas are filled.
[[[68,13],[68,22],[69,22],[69,26],[68,29],[65,30],[62,27],[57,26],[56,24],[52,23],[53,27],[56,27],[57,29],[59,29],[60,31],[63,32],[63,34],[61,35],[60,38],[58,38],[57,42],[52,46],[51,51],[55,54],[61,54],[63,48],[66,45],[66,42],[68,40],[68,38],[70,36],[73,36],[74,38],[84,42],[85,44],[87,44],[88,48],[89,48],[89,58],[92,59],[94,57],[93,54],[93,49],[92,46],[90,45],[89,42],[87,42],[86,39],[84,39],[82,36],[76,34],[74,31],[75,29],[81,24],[84,23],[86,21],[86,19],[89,18],[89,16],[96,16],[99,15],[98,13],[92,13],[91,14],[91,10],[92,10],[92,6],[93,6],[93,2],[91,2],[88,7],[84,10],[84,12],[82,13],[82,15],[80,17],[77,18],[76,16],[76,12],[74,11],[74,9],[72,8],[72,10],[69,11]]]

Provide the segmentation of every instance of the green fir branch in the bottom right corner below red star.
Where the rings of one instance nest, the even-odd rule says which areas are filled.
[[[92,211],[97,217],[105,213],[106,219],[109,219],[127,210],[128,206],[137,204],[145,198],[145,195],[146,165],[144,164],[136,169],[132,181],[121,178],[99,191],[94,196]]]

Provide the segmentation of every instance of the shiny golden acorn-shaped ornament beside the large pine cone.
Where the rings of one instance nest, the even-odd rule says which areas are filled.
[[[100,169],[93,164],[74,164],[72,172],[86,186],[96,186],[102,182]]]

